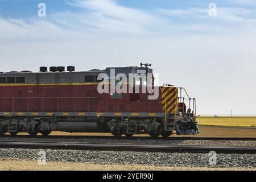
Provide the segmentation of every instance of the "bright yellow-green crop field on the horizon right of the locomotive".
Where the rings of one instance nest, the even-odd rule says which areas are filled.
[[[218,117],[201,116],[197,118],[201,126],[233,126],[233,127],[256,127],[256,117]]]

